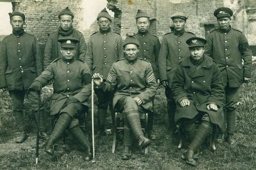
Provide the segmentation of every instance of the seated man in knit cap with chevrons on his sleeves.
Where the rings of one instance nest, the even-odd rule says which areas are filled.
[[[125,58],[113,63],[106,82],[102,75],[93,74],[95,85],[103,91],[115,90],[113,108],[124,110],[127,121],[124,127],[125,150],[122,159],[131,158],[132,134],[141,149],[147,148],[151,141],[141,130],[139,111],[152,111],[152,100],[156,95],[156,79],[151,64],[138,58],[139,42],[135,37],[127,37],[123,42]]]

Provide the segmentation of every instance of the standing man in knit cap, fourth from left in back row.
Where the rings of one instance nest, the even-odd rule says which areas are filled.
[[[149,18],[150,16],[146,11],[138,10],[136,15],[136,23],[138,28],[138,33],[134,35],[140,44],[140,50],[138,51],[138,56],[142,57],[144,60],[147,60],[151,63],[153,68],[154,76],[157,80],[157,85],[160,87],[160,80],[158,75],[158,55],[160,50],[160,41],[158,37],[152,35],[148,32],[150,25]],[[154,105],[154,100],[153,100]],[[153,107],[154,110],[154,107]],[[153,133],[153,120],[154,120],[154,111],[149,112],[148,115],[148,135],[151,140],[155,140],[156,136]]]

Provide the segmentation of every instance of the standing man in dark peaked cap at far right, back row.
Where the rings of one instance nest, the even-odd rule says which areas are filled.
[[[233,11],[220,7],[214,12],[218,28],[210,31],[205,45],[205,54],[212,57],[220,68],[224,83],[224,113],[226,114],[226,141],[233,145],[235,140],[236,105],[238,89],[243,82],[251,81],[252,53],[248,41],[240,30],[230,26]],[[243,64],[242,64],[243,59]],[[220,136],[221,137],[221,136]],[[221,138],[219,138],[221,141]]]

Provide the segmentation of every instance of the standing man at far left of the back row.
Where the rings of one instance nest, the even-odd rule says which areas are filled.
[[[20,131],[16,143],[23,143],[26,138],[26,126],[23,117],[23,102],[25,95],[31,105],[32,112],[37,117],[38,95],[28,90],[33,80],[42,72],[41,54],[37,39],[23,30],[25,15],[18,11],[9,13],[13,33],[5,37],[0,51],[0,89],[9,90],[13,101],[13,116]],[[37,120],[37,118],[36,118]],[[44,107],[40,107],[39,137],[47,140],[44,121]]]

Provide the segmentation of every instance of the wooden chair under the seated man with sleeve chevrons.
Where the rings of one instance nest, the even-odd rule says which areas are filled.
[[[145,134],[145,137],[148,138],[148,113],[142,113],[140,112],[140,119],[144,120],[144,126],[142,127],[142,130]],[[124,113],[123,112],[115,112],[115,121],[114,121],[114,127],[113,127],[113,144],[112,144],[112,153],[115,153],[115,145],[116,145],[116,133],[118,130],[124,130],[123,126],[124,121]],[[118,126],[121,122],[122,126]],[[144,149],[144,154],[146,155],[148,153],[148,148]]]

